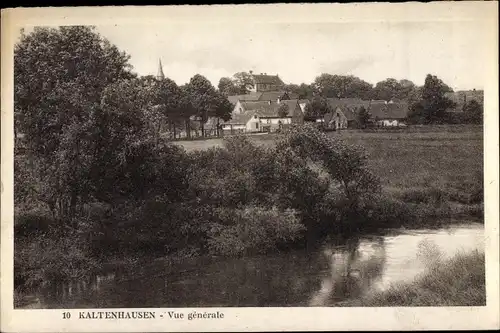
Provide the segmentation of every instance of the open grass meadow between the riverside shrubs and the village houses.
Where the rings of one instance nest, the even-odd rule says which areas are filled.
[[[482,216],[482,126],[344,130],[329,135],[366,149],[369,164],[380,177],[386,195],[421,207],[437,207],[440,216]],[[276,135],[251,135],[250,138],[257,144],[271,145]],[[223,141],[210,139],[178,144],[195,150],[222,146]]]

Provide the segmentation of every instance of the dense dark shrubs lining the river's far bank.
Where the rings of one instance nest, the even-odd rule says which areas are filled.
[[[18,157],[27,200],[16,201],[16,286],[77,278],[110,258],[262,254],[447,214],[433,190],[384,195],[360,146],[309,126],[276,139],[190,152],[142,142],[90,179],[97,190],[71,218],[45,204],[52,185],[34,176],[37,161]]]

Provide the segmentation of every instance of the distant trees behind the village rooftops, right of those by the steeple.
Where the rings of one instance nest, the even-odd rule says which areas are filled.
[[[239,72],[233,77],[219,81],[219,91],[227,96],[248,94],[253,86],[250,73]],[[427,75],[423,86],[409,80],[388,78],[374,86],[353,75],[332,75],[323,73],[313,83],[286,84],[283,90],[299,99],[311,102],[306,116],[322,116],[331,112],[327,98],[359,98],[362,100],[383,100],[404,102],[409,105],[410,123],[472,123],[482,122],[483,94],[481,91],[454,93],[447,84],[434,75]],[[468,97],[468,98],[467,98]],[[359,122],[370,118],[366,110],[358,110]],[[463,113],[462,113],[463,112]]]

